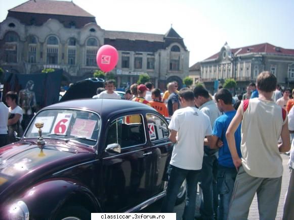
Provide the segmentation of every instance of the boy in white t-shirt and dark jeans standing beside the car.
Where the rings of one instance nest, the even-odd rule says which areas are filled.
[[[212,135],[208,116],[194,104],[194,93],[189,88],[179,92],[182,108],[174,112],[169,125],[170,140],[175,144],[169,167],[169,182],[161,212],[173,212],[179,189],[186,179],[187,195],[183,219],[194,219],[196,185],[200,181],[203,141]],[[201,125],[201,126],[199,126]]]

